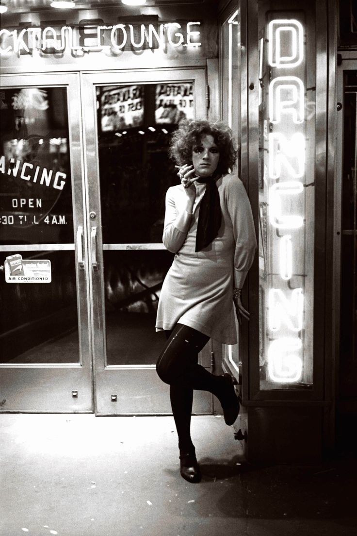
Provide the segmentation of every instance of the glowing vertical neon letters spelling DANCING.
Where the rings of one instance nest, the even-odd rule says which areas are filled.
[[[269,122],[269,223],[277,232],[279,276],[268,292],[268,372],[272,381],[293,383],[302,376],[304,296],[291,288],[294,248],[304,237],[303,199],[306,161],[305,87],[294,76],[303,63],[303,27],[298,20],[276,19],[268,26],[268,62],[278,75],[268,90]],[[299,68],[300,66],[300,68]],[[287,73],[288,72],[288,73]],[[286,74],[287,73],[287,74]],[[292,236],[293,235],[293,236]],[[283,328],[283,330],[282,330]],[[283,333],[279,337],[280,333]]]

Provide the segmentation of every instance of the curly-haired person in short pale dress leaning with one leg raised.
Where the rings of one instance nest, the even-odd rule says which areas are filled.
[[[253,263],[256,237],[252,210],[233,168],[237,151],[223,123],[185,121],[173,133],[170,155],[180,184],[166,193],[163,243],[175,254],[159,297],[156,331],[166,345],[156,370],[170,385],[180,473],[201,480],[191,440],[193,390],[214,394],[232,425],[239,401],[230,374],[214,375],[198,364],[210,338],[236,344],[236,322],[249,319],[241,289]]]

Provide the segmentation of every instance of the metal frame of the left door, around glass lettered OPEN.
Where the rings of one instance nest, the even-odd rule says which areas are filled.
[[[78,308],[78,363],[0,364],[1,396],[6,403],[3,412],[93,412],[93,374],[90,359],[89,295],[87,238],[84,228],[82,131],[80,121],[79,73],[61,72],[26,75],[2,75],[2,87],[66,87],[69,116],[70,166],[72,177],[72,208],[74,242],[69,244],[24,244],[0,247],[1,251],[64,251],[74,250]],[[79,230],[79,232],[77,232]],[[77,240],[76,240],[77,239]],[[79,243],[77,243],[79,241]],[[83,269],[79,266],[78,248],[82,248]],[[24,386],[31,385],[31,389]],[[77,395],[75,392],[77,391]]]

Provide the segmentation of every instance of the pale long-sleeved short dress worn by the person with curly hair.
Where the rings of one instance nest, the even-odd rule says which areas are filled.
[[[176,255],[159,296],[156,331],[171,330],[180,323],[221,343],[235,344],[233,283],[243,286],[256,238],[249,199],[238,176],[224,175],[216,185],[222,225],[218,236],[198,252],[196,230],[206,184],[195,182],[193,214],[185,210],[187,196],[181,184],[166,193],[163,243]]]

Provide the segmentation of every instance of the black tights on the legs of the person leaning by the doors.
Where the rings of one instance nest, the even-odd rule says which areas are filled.
[[[163,382],[170,385],[170,401],[179,439],[179,449],[193,448],[190,434],[193,390],[209,391],[222,396],[221,376],[215,376],[198,364],[198,354],[209,337],[184,324],[165,331],[168,339],[156,364]]]

